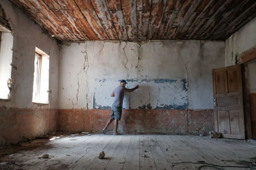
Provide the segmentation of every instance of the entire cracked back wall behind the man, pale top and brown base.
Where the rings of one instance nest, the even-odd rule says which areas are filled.
[[[128,81],[121,132],[206,133],[214,129],[212,69],[225,64],[219,41],[87,41],[63,45],[58,130],[100,132],[111,92]]]

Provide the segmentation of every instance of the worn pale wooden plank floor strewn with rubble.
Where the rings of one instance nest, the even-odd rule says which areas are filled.
[[[105,159],[97,158],[101,151],[106,153]],[[50,158],[42,159],[44,153]],[[54,139],[40,148],[9,155],[8,159],[22,169],[256,169],[255,157],[255,141],[93,134]]]

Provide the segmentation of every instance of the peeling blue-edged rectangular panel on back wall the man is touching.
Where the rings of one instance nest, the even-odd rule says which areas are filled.
[[[93,94],[93,109],[109,109],[113,103],[113,97],[109,97],[111,92],[119,84],[120,80],[96,79],[95,89]],[[127,80],[129,87],[140,85],[138,92],[127,93],[124,97],[124,108],[128,109],[150,109],[157,110],[163,109],[176,109],[184,110],[188,108],[188,87],[186,79],[153,79],[153,80],[140,80],[129,79]],[[147,87],[147,89],[144,89]],[[143,90],[144,89],[144,90]],[[147,97],[145,96],[147,93]]]

